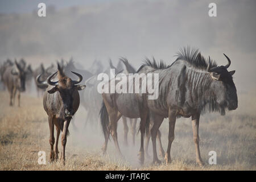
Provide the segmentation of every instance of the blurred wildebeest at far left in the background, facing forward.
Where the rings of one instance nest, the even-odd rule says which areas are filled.
[[[18,106],[20,106],[20,92],[26,90],[26,74],[26,70],[24,70],[16,60],[15,64],[7,67],[3,73],[3,82],[10,93],[10,106],[14,104],[16,92],[18,92]]]

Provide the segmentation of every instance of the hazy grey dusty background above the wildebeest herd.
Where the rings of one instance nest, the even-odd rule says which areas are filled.
[[[46,3],[46,17],[37,15]],[[208,16],[210,2],[217,17]],[[255,1],[0,1],[0,61],[24,57],[32,67],[64,58],[85,68],[95,59],[138,68],[145,56],[171,64],[184,46],[236,69],[238,92],[255,88]]]

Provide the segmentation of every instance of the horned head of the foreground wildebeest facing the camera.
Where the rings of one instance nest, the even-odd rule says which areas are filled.
[[[56,73],[58,81],[51,81],[52,77],[56,75]],[[72,117],[73,114],[75,114],[75,110],[73,110],[74,103],[76,102],[74,101],[74,97],[77,94],[77,90],[83,90],[85,88],[85,85],[79,85],[82,81],[82,76],[76,72],[72,73],[79,77],[77,81],[73,81],[71,78],[65,76],[63,67],[61,68],[58,64],[58,71],[47,78],[47,83],[54,86],[47,92],[49,94],[53,94],[55,92],[60,93],[62,102],[60,115],[64,115],[65,117]]]

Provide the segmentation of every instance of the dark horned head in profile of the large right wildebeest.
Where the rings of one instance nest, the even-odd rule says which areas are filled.
[[[207,68],[207,71],[210,72],[210,76],[213,81],[210,84],[212,90],[214,90],[214,94],[217,98],[217,104],[220,106],[221,114],[225,114],[225,108],[228,110],[237,109],[238,101],[237,101],[237,89],[233,82],[233,75],[235,71],[228,71],[228,68],[231,64],[231,61],[228,56],[228,64],[225,66]],[[210,61],[210,59],[209,59]]]

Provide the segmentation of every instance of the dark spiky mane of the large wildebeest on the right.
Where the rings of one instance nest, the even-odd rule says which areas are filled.
[[[204,56],[201,55],[199,52],[199,49],[191,49],[190,47],[180,49],[179,52],[177,52],[177,60],[185,60],[188,63],[190,63],[193,67],[198,69],[207,69],[207,66],[210,61],[210,68],[217,67],[217,63],[213,61],[212,59],[205,59]],[[174,63],[175,63],[174,61]]]

